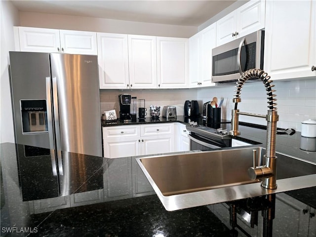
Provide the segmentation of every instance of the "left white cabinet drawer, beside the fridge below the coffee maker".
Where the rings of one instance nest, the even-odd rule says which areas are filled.
[[[103,139],[108,138],[127,138],[127,137],[139,137],[140,126],[136,125],[122,125],[113,127],[103,127]]]

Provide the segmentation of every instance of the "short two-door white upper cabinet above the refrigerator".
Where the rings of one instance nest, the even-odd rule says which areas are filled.
[[[28,52],[97,54],[95,32],[15,27],[16,49]]]

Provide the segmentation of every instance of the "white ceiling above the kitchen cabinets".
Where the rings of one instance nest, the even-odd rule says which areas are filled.
[[[199,26],[236,0],[12,0],[19,11]]]

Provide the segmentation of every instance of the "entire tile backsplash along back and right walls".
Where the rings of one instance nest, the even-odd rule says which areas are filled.
[[[316,119],[316,79],[296,79],[291,81],[274,81],[276,86],[276,103],[279,115],[277,126],[294,128],[301,131],[301,122],[307,119]],[[193,89],[151,89],[151,90],[100,90],[101,113],[115,109],[119,113],[118,94],[128,93],[137,96],[137,99],[146,100],[146,108],[151,104],[158,106],[174,105],[177,115],[184,115],[184,102],[197,100],[202,113],[203,103],[210,101],[214,96],[222,105],[222,118],[231,119],[231,110],[234,107],[233,97],[235,84]],[[241,103],[238,109],[242,112],[267,114],[267,94],[264,84],[260,81],[245,83],[241,94]],[[161,108],[162,109],[162,108]],[[148,113],[147,117],[150,117]],[[266,125],[264,118],[240,116],[240,121]]]

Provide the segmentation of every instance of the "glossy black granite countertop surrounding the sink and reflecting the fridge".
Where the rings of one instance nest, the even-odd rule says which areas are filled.
[[[237,139],[265,144],[264,129],[240,126],[240,131]],[[277,135],[278,152],[315,162],[316,153],[300,150],[299,144],[298,132]],[[61,152],[55,159],[53,154],[48,149],[0,144],[1,236],[211,237],[231,233],[219,219],[229,218],[227,209],[200,206],[166,211],[134,157],[109,159]],[[316,187],[276,197],[282,195],[316,208]],[[283,233],[288,220],[281,213],[288,210],[278,202],[275,205],[278,224],[273,228]]]

